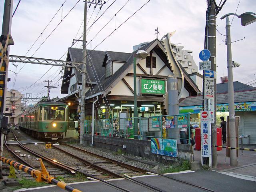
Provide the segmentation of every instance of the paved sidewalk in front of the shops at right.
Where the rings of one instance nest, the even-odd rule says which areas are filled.
[[[239,147],[241,147],[239,145]],[[256,149],[256,145],[244,145],[243,148]],[[230,166],[230,158],[226,158],[226,148],[222,148],[221,151],[217,151],[217,167],[216,171],[230,172],[234,174],[240,174],[244,176],[251,176],[256,181],[256,152],[238,150],[238,166]],[[194,160],[201,162],[201,152],[194,150]]]

